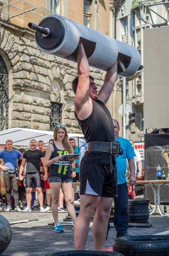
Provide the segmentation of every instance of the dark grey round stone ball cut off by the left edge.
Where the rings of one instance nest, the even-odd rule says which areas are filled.
[[[0,215],[0,254],[7,249],[11,242],[11,225],[3,215]]]

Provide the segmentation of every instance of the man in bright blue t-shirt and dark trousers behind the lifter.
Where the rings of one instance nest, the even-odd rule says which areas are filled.
[[[117,198],[114,198],[115,212],[114,212],[114,225],[117,231],[117,238],[120,236],[130,236],[127,232],[129,224],[128,213],[128,187],[126,182],[126,159],[129,162],[128,177],[131,185],[135,185],[135,152],[129,140],[119,137],[119,123],[113,119],[115,127],[115,141],[120,142],[120,154],[116,154],[116,167],[117,167]]]

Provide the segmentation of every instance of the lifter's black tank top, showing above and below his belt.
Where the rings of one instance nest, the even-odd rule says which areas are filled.
[[[115,141],[115,130],[112,121],[112,116],[104,105],[97,99],[92,100],[93,110],[89,117],[80,120],[75,112],[75,117],[83,131],[86,142],[89,141]],[[115,163],[115,157],[112,158],[110,153],[104,152],[89,152],[86,151],[83,160],[93,163]]]

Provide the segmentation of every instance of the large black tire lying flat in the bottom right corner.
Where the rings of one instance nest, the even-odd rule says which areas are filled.
[[[113,251],[124,256],[169,256],[169,236],[123,236],[115,239]]]

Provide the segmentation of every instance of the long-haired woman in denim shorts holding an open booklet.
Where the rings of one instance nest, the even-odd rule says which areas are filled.
[[[64,160],[61,156],[73,154],[73,148],[68,141],[68,133],[64,125],[57,125],[54,129],[54,142],[50,143],[45,155],[45,166],[50,166],[48,182],[52,192],[52,214],[54,218],[54,231],[63,232],[58,221],[58,201],[60,187],[62,188],[67,210],[73,223],[76,220],[76,213],[73,206],[73,192],[70,176],[70,166],[75,157],[71,160]]]

